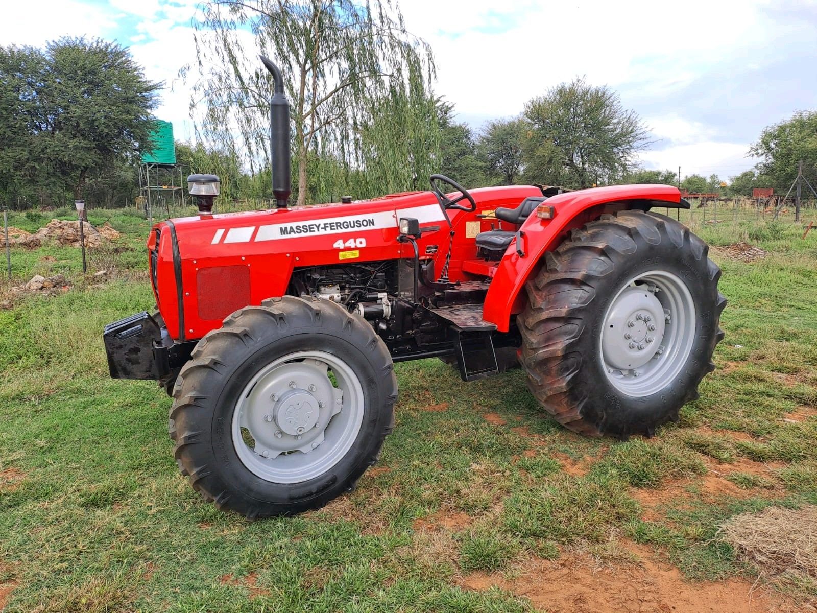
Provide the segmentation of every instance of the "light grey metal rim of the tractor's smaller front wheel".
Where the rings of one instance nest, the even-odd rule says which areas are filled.
[[[326,351],[297,351],[244,386],[233,412],[233,446],[264,481],[309,481],[346,455],[363,417],[363,387],[350,366]]]

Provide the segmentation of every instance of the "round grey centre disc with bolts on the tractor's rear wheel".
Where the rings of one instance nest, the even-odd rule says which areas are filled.
[[[601,348],[605,362],[627,372],[650,361],[664,333],[664,310],[652,291],[634,285],[615,298],[605,319]]]

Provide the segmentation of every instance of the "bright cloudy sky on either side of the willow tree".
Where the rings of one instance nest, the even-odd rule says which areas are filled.
[[[164,83],[158,118],[192,140],[190,89],[178,71],[194,59],[198,4],[3,0],[0,44],[116,40]],[[748,147],[763,128],[817,108],[817,0],[403,0],[400,9],[431,44],[435,92],[475,130],[584,76],[613,88],[650,128],[644,168],[726,179],[752,168]]]

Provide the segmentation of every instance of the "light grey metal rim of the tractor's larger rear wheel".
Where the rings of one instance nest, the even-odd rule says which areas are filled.
[[[599,355],[619,392],[661,392],[681,373],[695,338],[692,294],[678,275],[649,271],[618,290],[603,318]]]

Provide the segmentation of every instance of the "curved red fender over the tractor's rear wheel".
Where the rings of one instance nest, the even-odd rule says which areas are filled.
[[[539,219],[532,213],[520,230],[521,235],[511,242],[485,296],[483,319],[507,332],[511,315],[525,307],[525,282],[536,275],[545,253],[555,249],[569,230],[598,219],[604,213],[652,207],[690,208],[681,198],[681,192],[672,186],[638,185],[609,186],[591,190],[571,191],[547,199],[543,204],[553,206],[553,219]],[[516,241],[520,240],[521,244]]]

